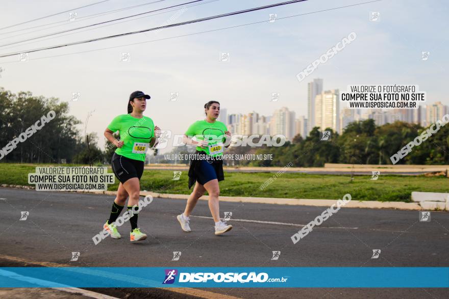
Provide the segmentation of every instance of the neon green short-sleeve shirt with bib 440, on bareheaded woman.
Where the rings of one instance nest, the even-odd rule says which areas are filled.
[[[209,147],[202,148],[197,146],[197,151],[204,151],[208,155],[210,150],[213,151],[211,156],[221,156],[223,154],[223,143],[226,141],[226,132],[228,128],[226,125],[220,121],[215,121],[214,123],[209,123],[206,120],[198,120],[190,125],[185,134],[188,137],[196,137],[197,140],[207,140],[209,141]],[[221,148],[220,148],[221,144]]]

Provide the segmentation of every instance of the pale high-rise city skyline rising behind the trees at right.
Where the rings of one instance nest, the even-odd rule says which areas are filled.
[[[337,94],[336,94],[337,92]],[[387,123],[393,123],[395,121],[403,121],[407,123],[420,124],[422,127],[426,127],[437,120],[440,120],[443,115],[449,113],[449,106],[442,104],[440,101],[429,103],[427,105],[419,105],[417,109],[350,109],[342,107],[339,113],[333,113],[332,105],[339,99],[337,97],[338,90],[323,91],[318,97],[327,96],[328,106],[330,105],[331,112],[323,113],[323,117],[317,119],[321,121],[322,125],[315,124],[315,127],[320,129],[332,128],[334,131],[341,134],[348,124],[354,121],[363,121],[367,119],[373,119],[377,126],[382,126]],[[322,101],[322,99],[321,99]],[[325,99],[326,101],[326,99]],[[321,104],[316,105],[316,111],[323,110]],[[226,117],[220,116],[218,121],[226,124],[232,134],[251,135],[251,134],[282,134],[285,135],[288,141],[291,141],[298,133],[301,137],[307,137],[308,133],[313,127],[308,124],[308,119],[303,115],[296,117],[294,111],[290,111],[288,107],[282,107],[273,111],[271,115],[260,115],[256,111],[252,111],[247,114],[232,113],[227,114]],[[337,118],[338,116],[338,118]],[[226,119],[226,122],[223,121]],[[307,132],[307,133],[306,133]]]

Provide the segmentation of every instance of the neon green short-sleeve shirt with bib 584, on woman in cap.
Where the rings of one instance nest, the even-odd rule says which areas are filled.
[[[151,118],[135,118],[129,114],[117,116],[109,124],[108,129],[113,132],[120,131],[120,141],[123,146],[117,148],[118,155],[134,160],[145,161],[145,153],[149,142],[154,137],[154,122]]]

